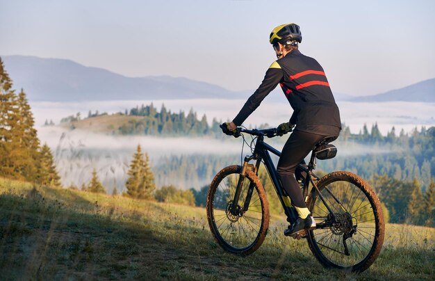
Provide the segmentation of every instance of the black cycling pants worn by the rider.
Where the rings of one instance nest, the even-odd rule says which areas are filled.
[[[281,157],[279,157],[277,172],[281,183],[290,196],[293,206],[306,208],[302,190],[295,179],[296,167],[314,146],[326,136],[298,131],[297,129],[288,138]]]

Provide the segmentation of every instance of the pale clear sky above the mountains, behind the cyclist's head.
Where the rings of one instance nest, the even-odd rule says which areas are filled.
[[[301,26],[299,48],[334,92],[374,95],[435,77],[432,0],[0,0],[0,55],[247,90],[275,59],[270,31],[288,22]]]

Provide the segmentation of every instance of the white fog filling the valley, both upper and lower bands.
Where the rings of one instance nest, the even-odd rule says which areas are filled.
[[[206,114],[208,122],[213,118],[217,120],[231,120],[243,106],[245,100],[161,100],[153,101],[160,111],[162,104],[172,112],[193,109],[198,118]],[[188,155],[188,154],[231,154],[240,156],[242,147],[241,138],[156,138],[153,136],[108,136],[94,134],[90,131],[69,130],[60,127],[42,127],[45,120],[53,120],[56,124],[60,118],[75,115],[80,112],[83,117],[88,111],[95,113],[124,112],[137,105],[148,105],[151,101],[110,101],[110,102],[83,102],[83,103],[54,103],[33,102],[32,111],[35,115],[38,136],[42,143],[47,143],[54,154],[56,167],[64,186],[72,184],[81,186],[90,180],[92,168],[96,168],[98,175],[109,192],[114,186],[119,190],[124,187],[126,172],[129,170],[131,157],[136,152],[138,144],[142,151],[150,157],[151,166],[156,167],[162,156]],[[396,134],[404,129],[411,132],[421,126],[435,126],[435,104],[383,102],[383,103],[354,103],[338,102],[342,121],[350,127],[351,132],[357,134],[367,125],[377,123],[382,134],[386,134],[394,126]],[[286,100],[282,103],[265,100],[245,122],[245,125],[260,125],[268,123],[277,126],[288,120],[292,111]],[[272,142],[277,149],[281,149],[283,140]],[[364,145],[338,145],[338,156],[389,153],[388,147],[373,150]],[[244,154],[249,150],[245,147]],[[232,163],[227,163],[232,164]],[[321,166],[320,166],[321,167]],[[210,182],[211,179],[203,179]],[[177,179],[174,179],[177,184]],[[158,183],[157,183],[158,184]]]

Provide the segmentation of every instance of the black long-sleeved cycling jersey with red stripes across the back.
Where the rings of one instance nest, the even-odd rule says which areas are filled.
[[[293,108],[290,123],[297,125],[297,130],[338,136],[340,113],[325,72],[314,58],[304,56],[297,49],[270,65],[263,82],[233,122],[242,125],[278,84]]]

